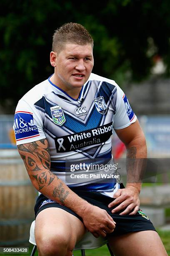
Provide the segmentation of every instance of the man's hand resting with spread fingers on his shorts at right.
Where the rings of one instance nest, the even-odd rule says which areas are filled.
[[[118,189],[114,194],[114,198],[116,198],[113,202],[111,202],[108,207],[114,207],[118,205],[115,209],[112,210],[112,213],[116,213],[125,209],[120,215],[135,215],[139,210],[140,200],[139,200],[139,191],[136,187],[128,186],[125,189]],[[133,212],[131,212],[133,210]]]

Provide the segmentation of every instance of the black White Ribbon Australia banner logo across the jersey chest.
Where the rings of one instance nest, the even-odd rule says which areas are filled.
[[[102,144],[112,135],[112,123],[97,128],[55,138],[57,153],[70,152],[92,145]]]

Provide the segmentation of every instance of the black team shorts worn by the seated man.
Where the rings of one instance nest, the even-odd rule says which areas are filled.
[[[100,194],[100,192],[89,192],[89,191],[76,191],[74,192],[79,195],[81,198],[86,200],[92,205],[100,207],[108,212],[108,214],[113,218],[116,222],[116,227],[114,231],[107,236],[117,236],[123,235],[129,232],[137,232],[143,230],[155,230],[153,223],[149,220],[148,216],[140,209],[138,210],[136,215],[119,215],[120,212],[116,214],[112,214],[111,210],[117,207],[108,208],[108,204],[114,200],[114,198],[108,197],[106,195]],[[78,219],[82,221],[82,218],[77,215],[75,212],[67,208],[66,206],[60,205],[57,202],[54,202],[44,195],[40,195],[37,198],[35,204],[35,218],[37,217],[38,213],[42,210],[49,208],[49,207],[57,207],[61,208],[67,212],[70,212],[72,215],[76,216]],[[121,210],[122,212],[123,210]],[[155,230],[156,231],[156,230]]]

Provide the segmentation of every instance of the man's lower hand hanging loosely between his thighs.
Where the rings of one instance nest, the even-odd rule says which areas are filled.
[[[106,210],[90,204],[84,210],[82,219],[85,227],[96,238],[112,233],[116,224]]]

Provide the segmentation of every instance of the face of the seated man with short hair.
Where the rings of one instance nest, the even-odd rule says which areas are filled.
[[[88,80],[94,65],[90,44],[65,44],[56,53],[55,81],[63,90],[80,88]]]

